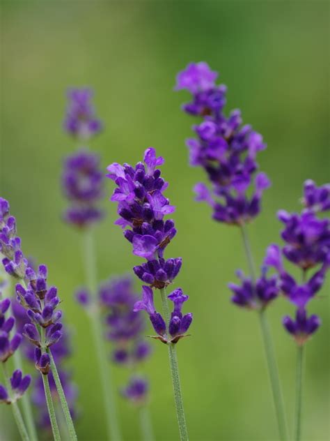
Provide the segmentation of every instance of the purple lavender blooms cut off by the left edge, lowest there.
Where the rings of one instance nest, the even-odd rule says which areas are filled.
[[[0,363],[6,363],[8,359],[18,349],[22,342],[22,335],[16,333],[13,338],[10,338],[10,331],[15,325],[15,317],[10,315],[6,318],[5,314],[10,307],[10,300],[1,300],[0,292]],[[14,403],[24,395],[31,383],[31,376],[25,375],[23,377],[22,371],[14,371],[10,378],[10,391],[0,384],[0,403]]]

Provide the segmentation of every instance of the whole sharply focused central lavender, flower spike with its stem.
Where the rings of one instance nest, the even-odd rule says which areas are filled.
[[[124,236],[132,243],[134,255],[146,259],[145,263],[134,267],[136,276],[148,284],[143,285],[142,299],[136,302],[134,311],[145,310],[148,313],[157,334],[154,338],[168,346],[180,438],[188,440],[175,344],[185,336],[192,315],[182,316],[182,303],[188,296],[178,289],[168,296],[174,303],[170,316],[165,292],[182,264],[180,257],[164,259],[165,248],[176,234],[174,222],[171,219],[164,221],[164,216],[173,213],[175,207],[163,195],[168,184],[160,176],[157,166],[164,163],[164,158],[157,157],[155,149],[149,148],[145,151],[144,163],[137,163],[135,167],[113,163],[107,169],[107,176],[116,184],[111,197],[113,202],[118,203],[120,218],[116,224],[124,229]],[[156,311],[153,289],[159,290],[165,320]]]

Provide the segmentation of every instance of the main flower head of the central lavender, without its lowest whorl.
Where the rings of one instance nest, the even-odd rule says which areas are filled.
[[[164,163],[150,147],[144,154],[144,162],[135,167],[113,163],[107,167],[109,179],[116,183],[111,200],[118,202],[120,218],[117,225],[125,229],[125,238],[132,244],[133,253],[148,262],[134,267],[135,274],[144,283],[162,288],[171,283],[180,270],[179,259],[163,258],[166,246],[175,237],[176,229],[171,219],[175,207],[164,196],[167,183],[157,168]],[[128,227],[128,228],[127,228]]]

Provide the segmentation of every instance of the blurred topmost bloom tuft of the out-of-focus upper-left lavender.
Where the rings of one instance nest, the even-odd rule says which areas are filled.
[[[95,117],[91,104],[91,89],[70,89],[68,91],[68,110],[65,116],[65,130],[80,140],[88,140],[102,129],[102,123]]]

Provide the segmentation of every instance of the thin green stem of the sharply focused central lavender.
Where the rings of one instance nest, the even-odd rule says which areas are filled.
[[[165,315],[166,323],[169,323],[170,312],[168,310],[165,289],[163,288],[162,290],[159,291],[162,298],[162,306],[163,306],[163,312]],[[180,440],[188,441],[189,438],[188,438],[186,418],[184,416],[182,393],[180,387],[180,375],[179,375],[178,359],[176,356],[175,344],[168,343],[167,347],[168,347],[168,357],[170,360],[171,376],[173,382],[175,408],[176,408],[176,414],[178,417],[178,424],[179,424]]]

